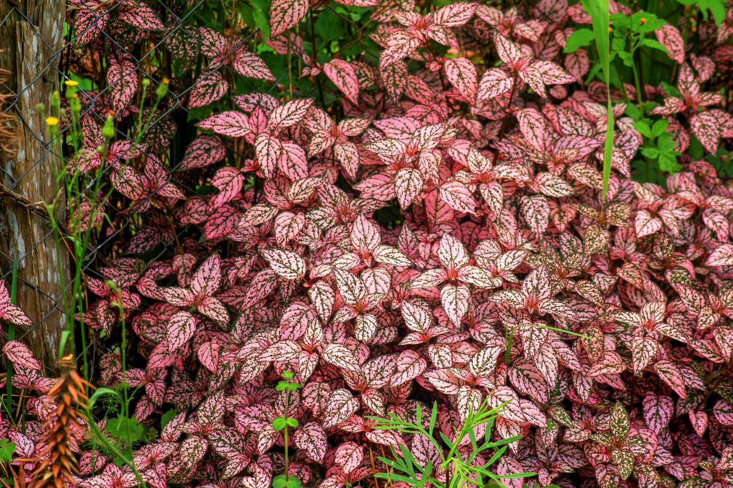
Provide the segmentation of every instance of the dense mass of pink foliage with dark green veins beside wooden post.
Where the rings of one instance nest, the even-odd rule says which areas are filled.
[[[611,0],[608,71],[589,9],[70,1],[49,124],[101,175],[107,349],[50,384],[5,344],[0,476],[405,486],[378,457],[438,447],[371,417],[437,402],[470,453],[487,402],[507,486],[733,484],[733,7]]]

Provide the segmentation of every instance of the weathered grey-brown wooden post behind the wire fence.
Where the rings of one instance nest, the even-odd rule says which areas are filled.
[[[63,171],[62,158],[51,153],[48,128],[37,104],[49,107],[51,94],[59,89],[56,68],[64,44],[65,15],[65,0],[20,0],[15,7],[10,1],[0,4],[0,47],[6,49],[0,53],[0,67],[12,73],[7,89],[17,99],[9,113],[15,115],[18,128],[18,152],[12,157],[0,155],[1,177],[7,188],[30,202],[52,202],[54,175]],[[65,206],[62,194],[58,208]],[[70,284],[68,254],[56,252],[48,220],[7,196],[0,199],[0,251],[0,276],[10,281],[13,259],[18,261],[18,306],[38,324],[32,330],[16,330],[16,339],[25,334],[23,341],[39,361],[54,367],[61,333],[66,330],[62,284]]]

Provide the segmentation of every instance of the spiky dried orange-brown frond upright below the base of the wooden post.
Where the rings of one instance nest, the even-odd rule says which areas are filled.
[[[46,456],[34,471],[33,488],[65,488],[75,486],[72,475],[78,474],[77,460],[70,449],[73,431],[78,432],[78,409],[86,408],[89,399],[84,394],[84,386],[89,385],[76,372],[73,357],[65,356],[59,361],[56,382],[48,391],[48,398],[58,406],[56,416],[49,418],[44,425],[46,447],[41,456]]]

